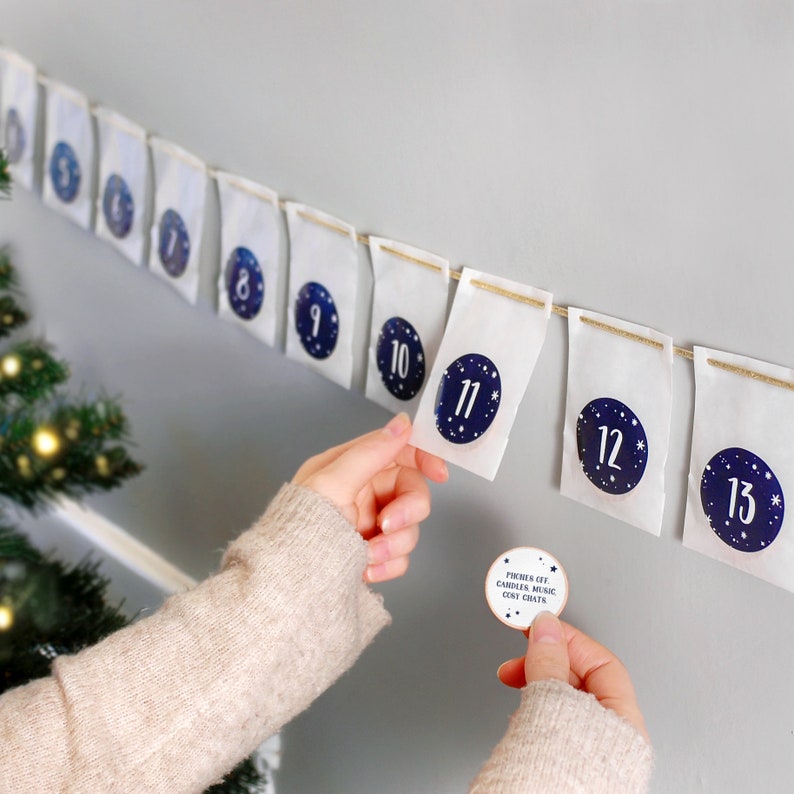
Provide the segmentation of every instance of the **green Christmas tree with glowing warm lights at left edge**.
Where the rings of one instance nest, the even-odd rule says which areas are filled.
[[[10,192],[0,150],[0,195]],[[11,256],[0,249],[0,339],[28,322],[19,298]],[[74,398],[68,380],[68,366],[44,341],[23,339],[0,350],[0,517],[12,505],[35,513],[60,496],[108,491],[142,470],[127,451],[119,401]],[[130,622],[121,605],[108,602],[109,584],[98,563],[66,565],[0,520],[0,694],[48,675],[60,654]],[[207,794],[253,794],[265,785],[264,771],[249,758]]]

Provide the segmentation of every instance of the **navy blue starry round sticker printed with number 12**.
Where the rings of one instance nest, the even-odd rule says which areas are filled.
[[[628,493],[645,473],[645,428],[620,400],[599,397],[585,405],[576,421],[576,446],[585,476],[606,493]]]

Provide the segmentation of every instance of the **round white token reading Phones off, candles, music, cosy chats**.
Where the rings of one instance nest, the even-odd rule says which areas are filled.
[[[502,623],[524,631],[538,613],[562,612],[568,577],[547,551],[519,546],[494,560],[485,577],[485,600]]]

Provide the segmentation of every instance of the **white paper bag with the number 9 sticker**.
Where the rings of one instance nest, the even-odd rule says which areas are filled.
[[[349,389],[358,289],[358,240],[348,223],[288,202],[287,355]]]

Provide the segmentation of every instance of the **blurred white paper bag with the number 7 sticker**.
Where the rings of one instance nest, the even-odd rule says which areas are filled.
[[[149,267],[196,303],[207,197],[207,166],[174,143],[152,138],[154,215]]]

